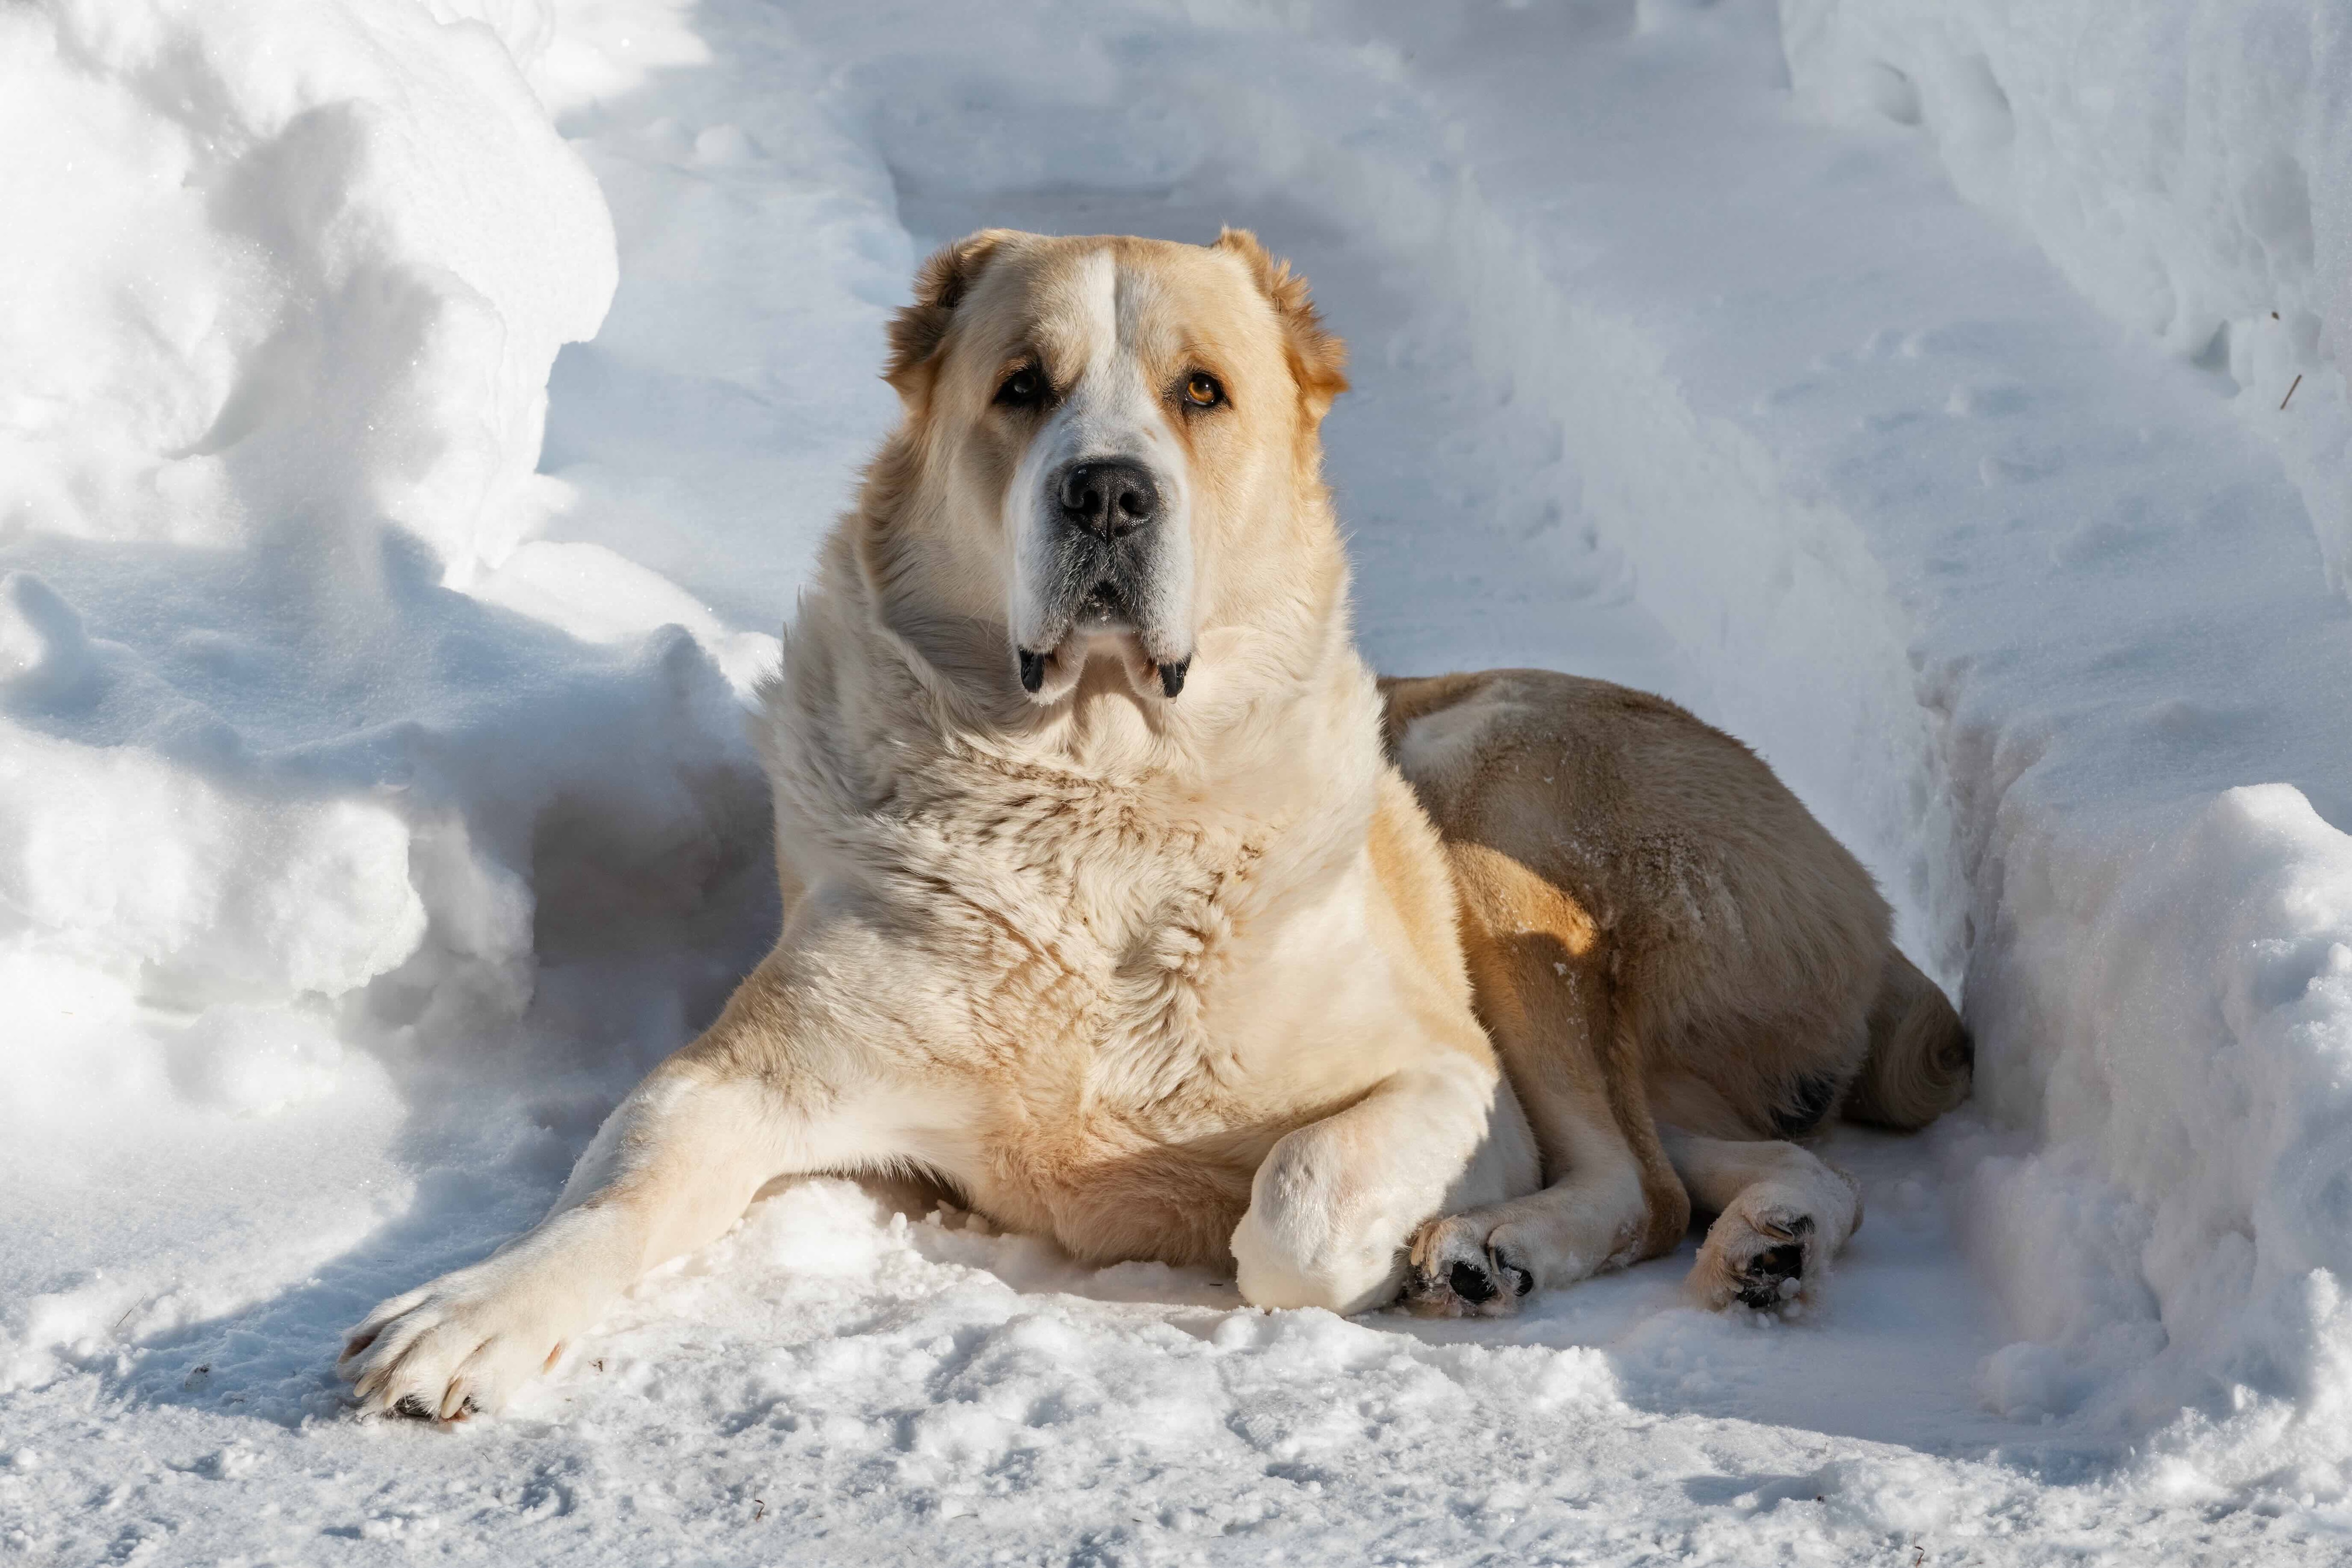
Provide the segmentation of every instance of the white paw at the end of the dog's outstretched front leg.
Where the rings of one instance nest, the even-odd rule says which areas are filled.
[[[334,1368],[362,1413],[466,1420],[555,1366],[564,1324],[539,1269],[494,1258],[395,1295],[350,1331]]]

